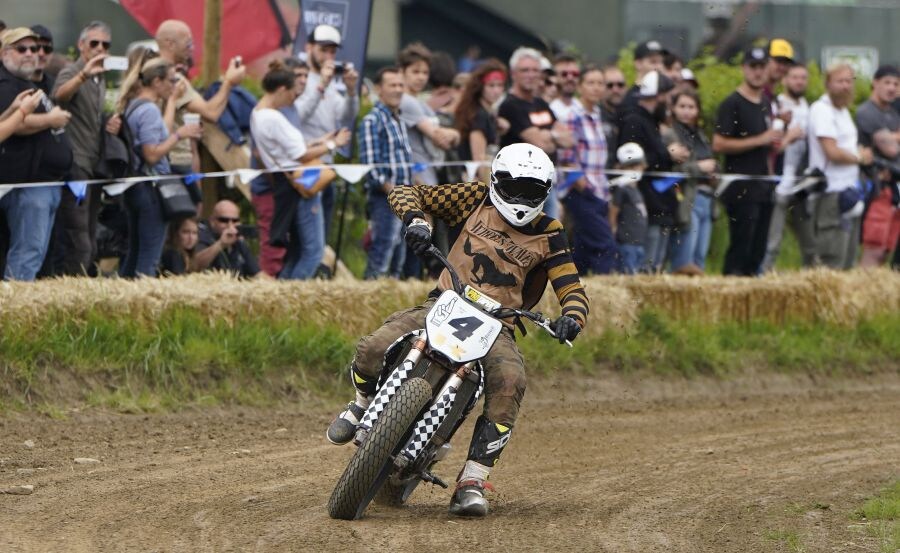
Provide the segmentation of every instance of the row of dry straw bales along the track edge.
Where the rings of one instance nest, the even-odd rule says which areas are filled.
[[[673,320],[708,323],[765,320],[821,321],[852,325],[879,313],[900,311],[900,274],[886,269],[852,272],[792,272],[764,278],[709,276],[592,277],[585,285],[592,309],[588,333],[629,328],[644,308]],[[167,310],[195,309],[210,321],[242,319],[321,322],[350,335],[375,328],[394,310],[421,302],[428,282],[237,281],[202,274],[126,281],[64,278],[36,283],[0,283],[0,329],[39,329],[47,317],[154,321]],[[559,307],[548,290],[538,306]]]

